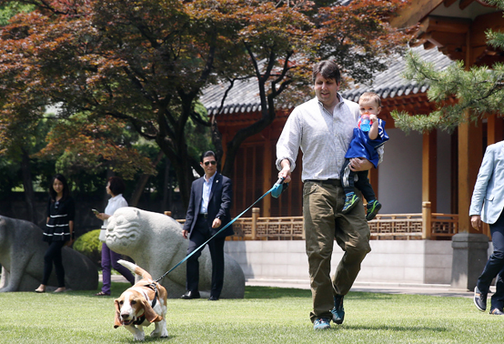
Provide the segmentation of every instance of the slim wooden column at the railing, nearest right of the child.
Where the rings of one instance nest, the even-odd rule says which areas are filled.
[[[438,200],[438,132],[424,133],[422,146],[422,202],[430,202],[437,211]]]

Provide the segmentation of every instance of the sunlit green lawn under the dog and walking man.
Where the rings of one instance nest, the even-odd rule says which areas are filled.
[[[114,329],[113,300],[93,291],[0,294],[2,343],[131,343]],[[345,323],[315,332],[309,290],[247,287],[244,299],[168,299],[168,339],[147,343],[489,343],[504,338],[504,317],[479,312],[470,298],[353,292]],[[146,328],[150,333],[154,326]]]

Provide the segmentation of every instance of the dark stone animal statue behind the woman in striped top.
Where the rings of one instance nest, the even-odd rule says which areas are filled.
[[[40,285],[47,249],[42,233],[31,222],[0,216],[0,292],[34,291]],[[66,288],[96,290],[98,271],[91,259],[72,248],[63,248],[62,254]],[[57,286],[54,269],[48,285]]]

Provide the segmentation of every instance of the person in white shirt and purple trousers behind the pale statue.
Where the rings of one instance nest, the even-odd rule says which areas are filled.
[[[121,264],[117,263],[117,260],[121,258],[121,255],[114,252],[112,249],[106,246],[106,226],[108,225],[108,218],[110,218],[119,207],[127,207],[127,202],[125,197],[123,197],[123,192],[125,192],[126,186],[123,179],[120,177],[110,177],[108,178],[108,183],[106,184],[106,193],[111,196],[108,200],[108,204],[105,208],[104,213],[96,214],[96,218],[104,221],[102,229],[100,230],[100,241],[103,242],[102,245],[102,277],[103,277],[103,287],[102,290],[95,294],[95,296],[109,296],[110,295],[110,285],[111,285],[111,270],[116,269],[121,275],[123,275],[131,285],[135,284],[135,277],[133,274]]]

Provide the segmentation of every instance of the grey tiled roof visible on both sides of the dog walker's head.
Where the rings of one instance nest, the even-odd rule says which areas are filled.
[[[423,46],[411,49],[418,53],[423,60],[434,63],[439,69],[444,69],[452,61],[444,56],[438,49],[425,50]],[[382,98],[392,98],[395,96],[406,96],[409,94],[423,93],[428,86],[417,85],[415,82],[405,80],[401,74],[406,69],[404,57],[399,56],[394,59],[388,70],[377,73],[371,86],[358,84],[350,90],[343,91],[343,97],[358,101],[358,96],[364,92],[372,91],[378,93]],[[209,86],[203,91],[200,100],[207,107],[208,114],[217,113],[222,97],[227,90],[227,85]],[[292,108],[291,104],[277,105],[278,109]],[[237,81],[235,86],[229,91],[223,111],[225,114],[236,112],[255,112],[260,109],[260,99],[258,96],[257,79]]]

